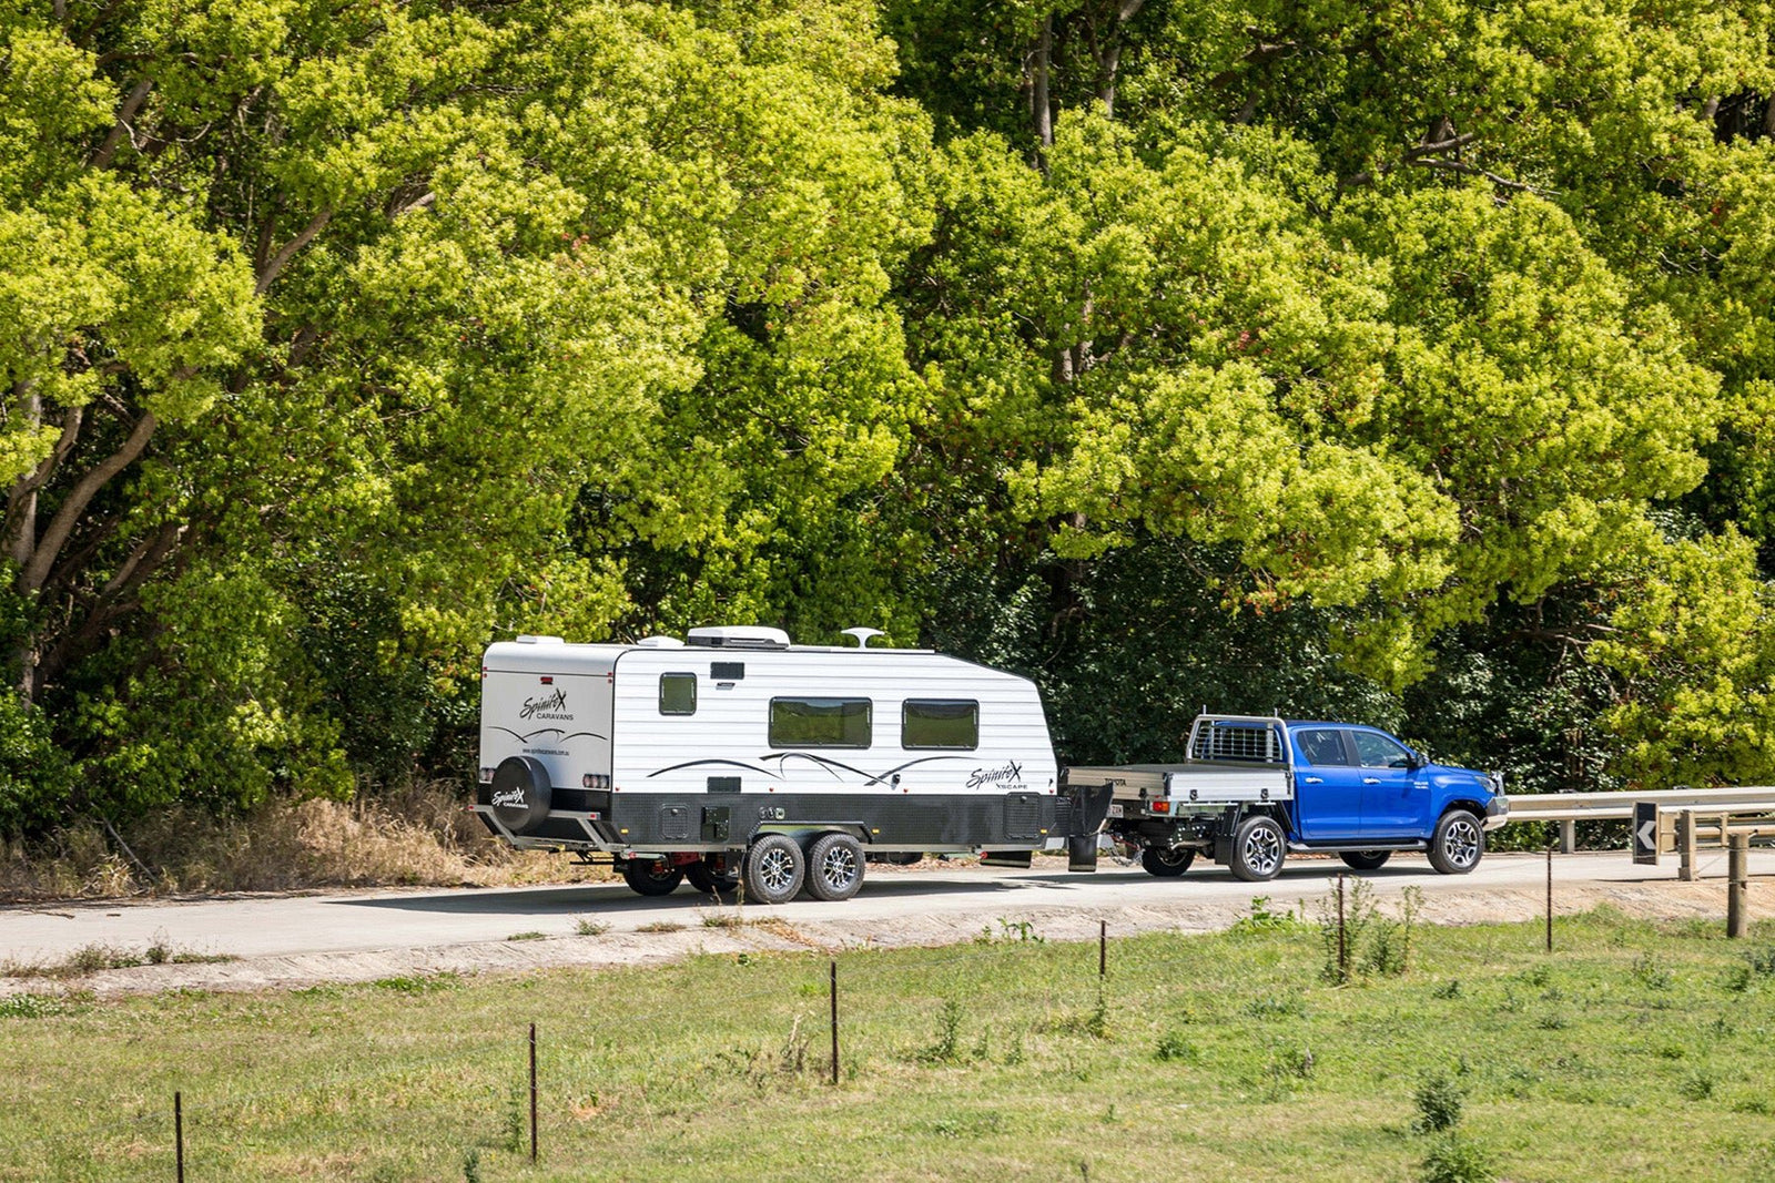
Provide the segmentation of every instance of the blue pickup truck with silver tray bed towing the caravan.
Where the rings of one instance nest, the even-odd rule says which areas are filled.
[[[1376,727],[1258,715],[1202,715],[1180,764],[1069,768],[1067,780],[1111,786],[1106,832],[1161,876],[1207,855],[1262,881],[1290,850],[1360,871],[1425,851],[1464,874],[1511,811],[1500,773],[1434,764]]]

